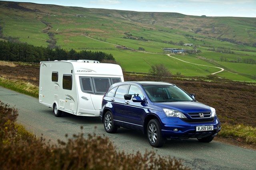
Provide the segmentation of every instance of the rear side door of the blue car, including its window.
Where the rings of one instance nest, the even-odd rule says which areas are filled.
[[[114,121],[117,121],[117,124],[120,125],[123,121],[123,111],[124,111],[124,95],[127,94],[129,84],[118,86],[116,93],[113,98],[111,98],[111,104],[113,107],[113,117]]]

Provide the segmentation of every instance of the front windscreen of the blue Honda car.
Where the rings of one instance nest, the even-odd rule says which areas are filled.
[[[186,92],[174,85],[147,85],[143,88],[152,102],[193,101]]]

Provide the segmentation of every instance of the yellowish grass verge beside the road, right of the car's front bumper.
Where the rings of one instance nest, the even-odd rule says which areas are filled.
[[[231,125],[222,123],[222,129],[218,136],[224,138],[232,138],[238,142],[249,145],[256,145],[256,128],[248,125]]]

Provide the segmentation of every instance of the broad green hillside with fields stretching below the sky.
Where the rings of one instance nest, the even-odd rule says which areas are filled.
[[[172,74],[207,76],[220,70],[215,66],[225,69],[217,74],[221,78],[256,79],[253,63],[256,60],[256,47],[253,47],[255,18],[200,17],[4,1],[0,1],[0,8],[1,39],[16,38],[35,46],[112,53],[130,72],[148,72],[151,65],[164,63]],[[164,47],[193,50],[182,46],[183,43],[193,43],[201,53],[171,58],[162,50]],[[142,47],[145,51],[125,47],[135,50]]]

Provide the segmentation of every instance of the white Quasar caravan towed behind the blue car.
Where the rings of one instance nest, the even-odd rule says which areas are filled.
[[[62,111],[79,116],[99,116],[108,88],[123,82],[117,64],[91,60],[40,62],[39,102],[52,107],[59,117]]]

